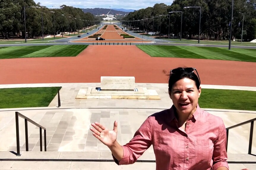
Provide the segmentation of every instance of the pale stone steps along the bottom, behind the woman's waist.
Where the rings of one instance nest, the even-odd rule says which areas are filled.
[[[50,169],[67,169],[67,170],[80,170],[80,169],[94,169],[94,170],[155,170],[155,163],[140,163],[136,162],[132,165],[117,166],[114,162],[106,162],[103,159],[112,160],[110,152],[21,152],[21,156],[2,151],[0,152],[0,159],[101,159],[102,161],[0,161],[1,170],[50,170]],[[228,154],[228,161],[256,161],[256,156],[249,154]],[[154,153],[144,153],[138,160],[155,160]],[[249,168],[249,170],[256,169],[255,164],[245,163],[229,163],[230,170],[241,170]]]

